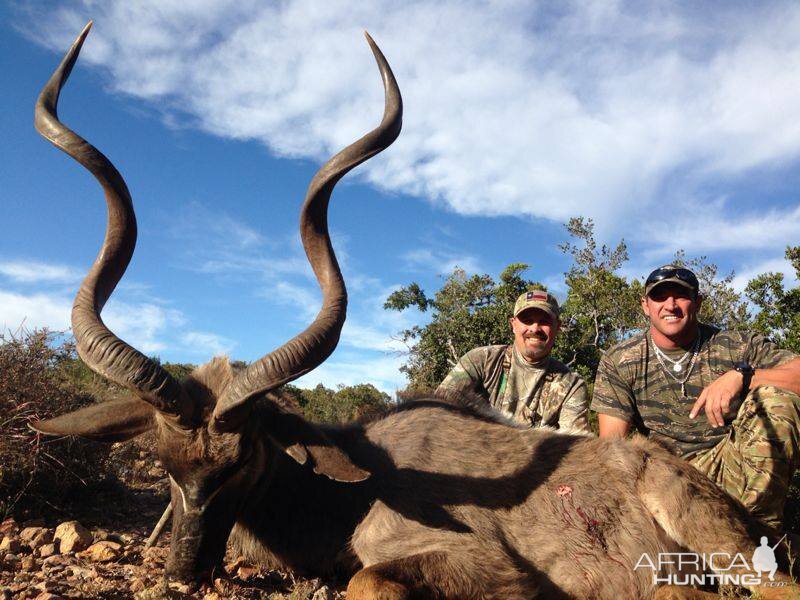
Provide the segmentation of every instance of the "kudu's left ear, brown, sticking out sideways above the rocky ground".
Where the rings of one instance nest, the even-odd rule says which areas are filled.
[[[47,419],[31,429],[47,435],[78,435],[98,442],[122,442],[152,429],[155,410],[135,398],[110,400]]]

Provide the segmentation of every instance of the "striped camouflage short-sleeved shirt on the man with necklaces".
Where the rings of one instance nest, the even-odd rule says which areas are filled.
[[[672,360],[686,352],[663,351]],[[794,358],[763,335],[721,331],[700,325],[700,346],[694,369],[686,381],[686,398],[653,354],[650,334],[645,332],[609,349],[600,361],[592,396],[592,410],[631,423],[640,433],[689,457],[715,446],[727,435],[742,398],[731,406],[725,425],[712,427],[701,412],[694,419],[689,411],[700,392],[737,362],[754,368],[770,368]],[[684,362],[688,366],[689,357]],[[667,366],[670,366],[667,363]],[[678,376],[681,379],[680,376]]]

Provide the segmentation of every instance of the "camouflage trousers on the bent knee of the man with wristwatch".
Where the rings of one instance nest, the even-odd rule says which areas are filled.
[[[780,528],[800,461],[798,427],[800,396],[759,386],[745,398],[727,437],[689,462],[754,516]]]

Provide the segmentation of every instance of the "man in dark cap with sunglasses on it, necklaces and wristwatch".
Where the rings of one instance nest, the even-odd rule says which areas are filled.
[[[698,292],[675,265],[647,278],[649,329],[608,350],[597,371],[600,437],[635,428],[780,526],[800,460],[800,358],[760,334],[699,323]]]

